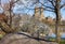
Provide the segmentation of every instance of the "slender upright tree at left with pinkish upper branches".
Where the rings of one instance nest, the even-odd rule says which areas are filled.
[[[13,14],[12,8],[18,1],[20,0],[8,0],[8,3],[1,3],[2,4],[2,9],[4,10],[4,14],[9,14],[9,24],[10,24],[10,27],[12,25],[12,14]]]

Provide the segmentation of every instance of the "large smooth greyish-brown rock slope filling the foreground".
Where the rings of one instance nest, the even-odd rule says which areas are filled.
[[[57,44],[55,42],[46,42],[41,40],[35,40],[27,34],[23,33],[10,33],[6,34],[1,41],[0,44]]]

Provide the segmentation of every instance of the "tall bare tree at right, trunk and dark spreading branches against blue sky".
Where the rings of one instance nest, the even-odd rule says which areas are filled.
[[[42,4],[46,10],[49,9],[48,11],[51,11],[55,13],[56,16],[56,23],[55,23],[55,34],[56,34],[56,42],[60,43],[61,41],[61,35],[60,35],[60,30],[58,30],[58,23],[61,20],[61,9],[64,8],[65,3],[61,4],[62,0],[47,0],[51,6]]]

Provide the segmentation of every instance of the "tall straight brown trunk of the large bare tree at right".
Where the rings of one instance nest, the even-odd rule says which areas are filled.
[[[61,41],[61,35],[60,35],[60,30],[58,30],[58,25],[60,25],[60,19],[61,19],[60,0],[56,0],[55,14],[56,14],[55,34],[56,34],[56,42],[60,44],[60,41]]]

